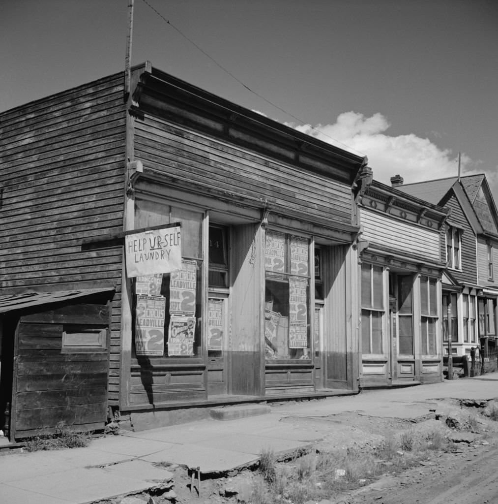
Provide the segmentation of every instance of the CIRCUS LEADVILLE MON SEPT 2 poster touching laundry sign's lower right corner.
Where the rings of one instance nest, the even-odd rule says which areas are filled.
[[[197,263],[183,260],[181,269],[171,272],[170,314],[195,315],[195,282]]]

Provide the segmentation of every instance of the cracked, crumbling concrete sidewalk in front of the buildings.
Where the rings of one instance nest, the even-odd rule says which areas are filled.
[[[415,418],[426,415],[437,399],[498,397],[498,373],[473,379],[319,401],[273,405],[265,415],[229,421],[202,420],[142,432],[96,438],[87,448],[0,456],[0,501],[9,504],[82,504],[167,482],[172,474],[154,462],[200,467],[202,473],[225,472],[255,463],[262,449],[275,454],[305,450],[325,430],[310,431],[280,421],[325,417],[344,412]],[[325,428],[325,427],[324,427]],[[327,427],[330,428],[330,427]]]

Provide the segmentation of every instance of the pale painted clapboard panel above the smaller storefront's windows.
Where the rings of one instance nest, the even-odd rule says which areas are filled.
[[[402,222],[365,208],[360,208],[362,239],[403,254],[407,250],[420,258],[440,259],[439,231]]]

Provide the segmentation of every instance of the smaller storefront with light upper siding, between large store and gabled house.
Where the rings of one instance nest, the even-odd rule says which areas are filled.
[[[448,210],[375,180],[359,193],[358,204],[361,385],[441,381]]]

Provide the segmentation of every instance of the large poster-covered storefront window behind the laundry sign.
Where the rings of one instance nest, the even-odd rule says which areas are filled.
[[[181,269],[134,280],[134,350],[143,357],[201,356],[203,214],[138,200],[135,228],[181,224]]]

